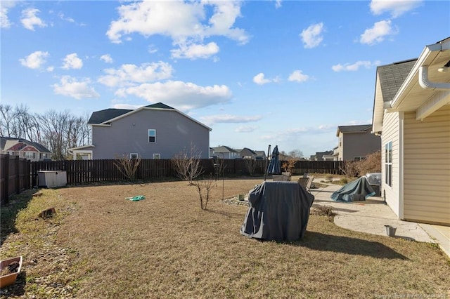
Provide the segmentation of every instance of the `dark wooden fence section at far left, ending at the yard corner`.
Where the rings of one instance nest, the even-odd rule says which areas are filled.
[[[8,204],[11,195],[30,188],[30,164],[27,159],[1,154],[0,204]]]

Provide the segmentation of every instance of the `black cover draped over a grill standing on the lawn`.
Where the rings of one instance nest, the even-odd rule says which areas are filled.
[[[314,195],[297,182],[263,182],[250,190],[248,201],[241,234],[274,241],[303,238]]]

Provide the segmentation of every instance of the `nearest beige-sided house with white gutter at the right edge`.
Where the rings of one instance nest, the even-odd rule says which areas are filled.
[[[382,197],[401,220],[450,225],[450,38],[377,67]]]

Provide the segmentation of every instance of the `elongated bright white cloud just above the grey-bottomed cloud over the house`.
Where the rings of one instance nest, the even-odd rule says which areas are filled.
[[[151,62],[141,66],[122,65],[119,69],[105,69],[98,82],[110,87],[130,86],[172,77],[172,66],[167,62]]]

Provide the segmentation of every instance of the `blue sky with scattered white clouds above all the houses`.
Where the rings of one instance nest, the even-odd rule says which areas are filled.
[[[377,65],[450,36],[450,1],[1,1],[1,103],[164,102],[210,146],[305,157],[371,124]]]

